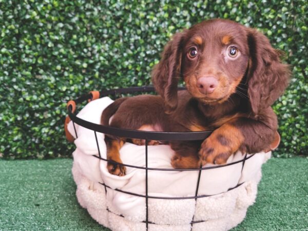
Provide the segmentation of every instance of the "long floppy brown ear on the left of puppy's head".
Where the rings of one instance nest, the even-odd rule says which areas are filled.
[[[185,32],[177,33],[167,43],[160,62],[152,71],[152,83],[164,100],[166,113],[178,106],[178,80],[181,77],[182,42]]]

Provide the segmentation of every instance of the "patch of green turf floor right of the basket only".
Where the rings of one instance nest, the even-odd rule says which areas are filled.
[[[262,175],[256,203],[233,230],[308,230],[308,158],[272,158]]]

